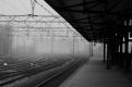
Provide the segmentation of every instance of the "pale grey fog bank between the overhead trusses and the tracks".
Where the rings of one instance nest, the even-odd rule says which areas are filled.
[[[39,32],[13,32],[11,25],[0,25],[0,58],[40,60],[88,57],[88,41],[81,37],[56,37]]]

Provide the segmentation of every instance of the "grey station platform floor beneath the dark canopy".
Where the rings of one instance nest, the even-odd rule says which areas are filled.
[[[91,58],[59,87],[132,87],[131,78],[116,67],[106,70],[101,60]],[[131,75],[130,75],[131,76]]]

